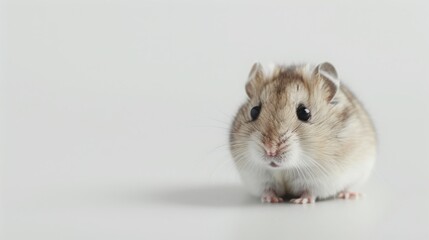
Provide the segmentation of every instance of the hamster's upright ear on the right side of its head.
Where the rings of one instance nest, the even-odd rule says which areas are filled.
[[[322,90],[327,93],[326,100],[331,102],[340,87],[340,80],[335,67],[328,62],[321,63],[314,69],[313,76],[320,81]]]

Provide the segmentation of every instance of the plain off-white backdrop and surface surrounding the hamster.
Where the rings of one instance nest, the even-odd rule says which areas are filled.
[[[1,239],[429,239],[427,1],[2,1]],[[254,61],[330,61],[380,141],[356,201],[263,205]]]

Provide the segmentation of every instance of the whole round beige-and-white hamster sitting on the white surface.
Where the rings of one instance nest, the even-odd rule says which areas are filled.
[[[263,202],[354,198],[370,174],[376,134],[362,104],[330,63],[255,63],[248,100],[233,121],[230,150],[238,172]]]

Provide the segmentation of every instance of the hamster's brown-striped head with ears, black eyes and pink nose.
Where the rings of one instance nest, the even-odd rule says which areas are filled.
[[[320,149],[334,137],[330,124],[338,115],[338,92],[337,73],[330,63],[269,70],[255,63],[246,84],[249,98],[230,133],[236,164],[269,169],[308,166],[306,158],[323,154]]]

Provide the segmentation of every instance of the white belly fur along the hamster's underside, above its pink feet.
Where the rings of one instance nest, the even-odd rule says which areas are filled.
[[[306,192],[318,198],[327,198],[363,182],[373,162],[368,159],[360,164],[325,171],[317,167],[281,170],[252,167],[241,168],[239,172],[249,192],[256,196],[260,196],[267,188],[273,188],[279,195],[301,195]]]

